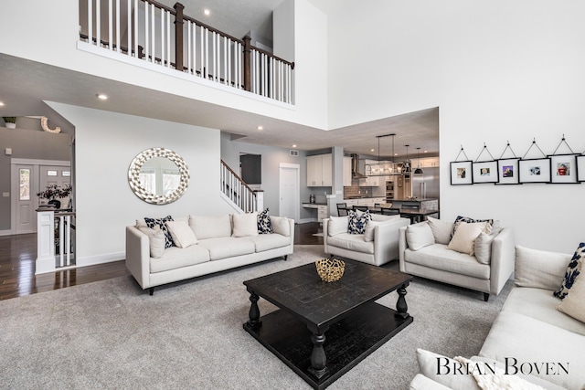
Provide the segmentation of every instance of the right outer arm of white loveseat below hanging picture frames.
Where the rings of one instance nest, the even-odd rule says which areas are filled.
[[[495,236],[492,243],[492,258],[490,261],[490,292],[499,294],[505,282],[514,272],[515,260],[514,235],[510,227],[504,227]]]

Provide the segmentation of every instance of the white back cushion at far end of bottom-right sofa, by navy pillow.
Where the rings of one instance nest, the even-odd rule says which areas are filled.
[[[516,286],[558,290],[570,256],[516,245],[514,282]]]

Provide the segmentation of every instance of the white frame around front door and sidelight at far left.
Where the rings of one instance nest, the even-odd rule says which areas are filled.
[[[40,165],[56,165],[56,166],[71,166],[69,161],[62,161],[62,160],[38,160],[38,159],[27,159],[27,158],[11,158],[10,159],[10,192],[11,192],[11,202],[10,202],[10,234],[16,234],[16,208],[17,208],[17,195],[20,194],[19,191],[19,180],[18,180],[18,169],[16,168],[17,165],[32,165],[33,172],[31,174],[31,185],[30,185],[30,195],[31,195],[31,202],[33,204],[38,204],[37,199],[37,192],[38,192],[38,181],[39,181],[39,174],[40,174]],[[36,218],[36,217],[35,217]],[[34,220],[34,219],[33,219]],[[33,232],[37,231],[37,224],[34,224],[35,229]]]

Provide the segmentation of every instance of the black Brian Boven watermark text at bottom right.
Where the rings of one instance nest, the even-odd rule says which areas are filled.
[[[558,362],[518,362],[514,357],[504,358],[505,375],[568,375],[569,363]],[[446,357],[437,357],[438,375],[469,375],[469,374],[495,374],[494,362],[461,363]]]

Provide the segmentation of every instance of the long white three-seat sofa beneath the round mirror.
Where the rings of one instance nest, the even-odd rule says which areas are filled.
[[[178,280],[195,278],[226,269],[233,269],[293,253],[294,220],[270,216],[271,234],[254,234],[238,226],[240,216],[185,216],[174,218],[186,222],[197,243],[186,248],[165,248],[160,257],[152,257],[150,237],[145,224],[126,227],[126,268],[138,284],[150,290]],[[248,224],[250,227],[250,224]]]

